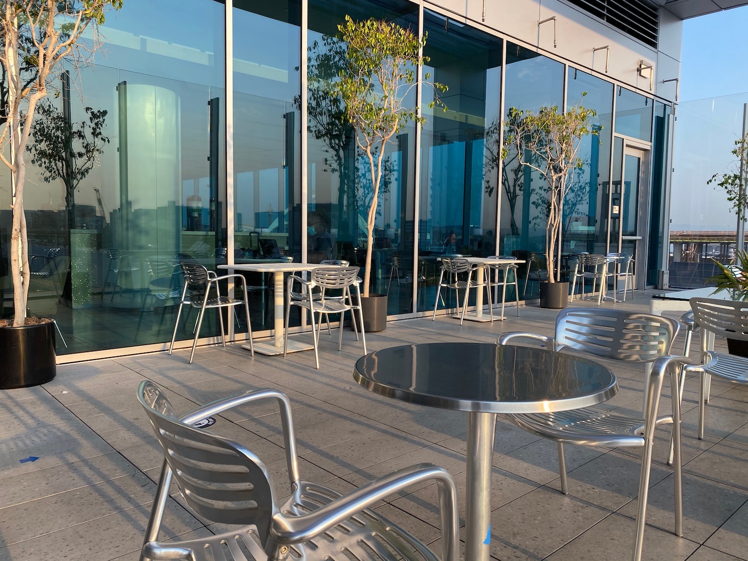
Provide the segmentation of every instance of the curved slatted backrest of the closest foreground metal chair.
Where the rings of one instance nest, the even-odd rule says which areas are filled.
[[[138,400],[191,509],[221,524],[255,524],[264,545],[275,497],[263,462],[241,444],[181,423],[152,382],[141,384]]]

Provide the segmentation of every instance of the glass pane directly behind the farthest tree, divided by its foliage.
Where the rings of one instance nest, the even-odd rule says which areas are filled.
[[[563,103],[564,66],[530,49],[507,43],[504,116],[510,108],[538,111],[543,105]],[[527,263],[519,269],[525,281],[524,298],[539,296],[538,278],[545,266],[531,260],[545,251],[545,180],[538,172],[517,162],[514,147],[507,146],[503,160],[503,199],[501,202],[500,245],[503,255],[515,255]]]

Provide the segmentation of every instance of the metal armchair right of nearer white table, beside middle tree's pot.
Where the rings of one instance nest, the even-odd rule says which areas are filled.
[[[351,322],[356,333],[358,341],[358,326],[356,316],[353,310],[358,310],[358,319],[361,321],[361,340],[364,342],[364,355],[367,354],[367,339],[364,334],[364,316],[361,313],[361,279],[358,278],[358,267],[318,267],[312,269],[310,280],[307,281],[298,275],[289,275],[288,286],[286,288],[286,332],[283,338],[283,356],[286,356],[288,348],[288,325],[289,316],[291,315],[291,306],[298,306],[304,310],[309,310],[312,323],[312,339],[314,343],[314,361],[317,370],[319,370],[319,328],[322,324],[322,314],[325,316],[331,313],[340,313],[340,324],[338,327],[337,350],[343,349],[343,314],[351,313]],[[300,283],[301,292],[293,291],[293,283]],[[356,287],[356,301],[353,301],[351,295],[351,286]],[[314,295],[315,289],[319,287],[319,297]],[[326,290],[342,289],[343,295],[328,296]],[[301,295],[301,298],[294,298],[292,292]],[[320,325],[316,325],[314,314],[320,314]]]

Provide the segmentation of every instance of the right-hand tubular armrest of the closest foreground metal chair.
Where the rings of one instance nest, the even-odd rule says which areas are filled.
[[[439,485],[441,533],[444,548],[442,559],[444,561],[457,561],[459,559],[457,489],[447,470],[432,464],[418,464],[379,477],[306,515],[286,517],[279,512],[273,516],[270,526],[275,548],[308,542],[325,530],[373,505],[378,500],[382,500],[384,497],[409,485],[429,479],[436,479]],[[271,559],[275,559],[275,557],[272,557],[272,552],[269,553]]]

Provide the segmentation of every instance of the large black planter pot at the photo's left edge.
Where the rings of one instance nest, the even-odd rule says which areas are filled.
[[[0,327],[0,390],[46,384],[57,373],[55,324]]]

